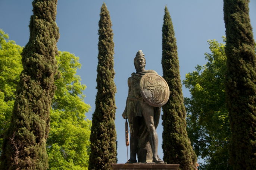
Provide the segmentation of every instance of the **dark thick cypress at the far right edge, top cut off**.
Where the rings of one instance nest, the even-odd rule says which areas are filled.
[[[256,169],[256,54],[249,0],[224,0],[227,44],[227,107],[230,163],[234,170]]]

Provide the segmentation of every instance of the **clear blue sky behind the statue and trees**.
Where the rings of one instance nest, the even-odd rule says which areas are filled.
[[[32,0],[0,0],[0,29],[9,34],[10,40],[25,46],[29,39],[29,20]],[[112,20],[115,42],[116,132],[118,140],[118,163],[127,161],[124,119],[128,94],[127,78],[135,72],[133,59],[138,50],[146,55],[146,69],[162,75],[162,24],[167,5],[177,39],[181,80],[192,72],[197,64],[205,64],[204,53],[209,52],[207,40],[222,42],[225,35],[222,0],[105,0]],[[102,0],[59,0],[57,25],[60,51],[69,51],[80,58],[78,70],[82,84],[87,85],[85,103],[95,110],[98,22]],[[250,19],[256,29],[256,1],[251,0]],[[256,34],[254,33],[256,39]],[[185,97],[190,93],[183,88]],[[157,128],[159,156],[162,153],[162,125]]]

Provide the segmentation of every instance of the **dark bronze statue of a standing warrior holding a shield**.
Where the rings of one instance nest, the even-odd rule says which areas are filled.
[[[134,58],[136,73],[128,78],[128,97],[122,116],[130,128],[130,159],[127,163],[163,163],[157,155],[161,106],[168,101],[169,87],[154,70],[146,70],[145,55],[139,50]]]

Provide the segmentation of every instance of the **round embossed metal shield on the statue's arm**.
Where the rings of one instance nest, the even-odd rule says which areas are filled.
[[[163,106],[169,99],[169,86],[165,79],[155,73],[147,73],[140,80],[140,94],[153,107]]]

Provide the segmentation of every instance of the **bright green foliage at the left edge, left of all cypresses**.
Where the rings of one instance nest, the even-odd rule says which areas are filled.
[[[0,29],[0,148],[3,135],[10,125],[16,86],[23,69],[22,47],[7,39],[9,36]]]

